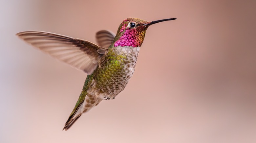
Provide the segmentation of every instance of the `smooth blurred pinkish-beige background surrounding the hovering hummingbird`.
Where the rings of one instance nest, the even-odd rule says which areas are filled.
[[[256,142],[256,1],[5,0],[0,142]],[[148,28],[134,76],[62,131],[86,74],[18,39],[26,30],[95,42],[128,17]]]

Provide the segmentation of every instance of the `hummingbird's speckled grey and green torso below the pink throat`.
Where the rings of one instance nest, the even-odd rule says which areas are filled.
[[[106,62],[95,71],[92,86],[87,91],[89,94],[104,100],[114,99],[129,82],[135,71],[139,47],[116,50],[121,55],[106,56]]]

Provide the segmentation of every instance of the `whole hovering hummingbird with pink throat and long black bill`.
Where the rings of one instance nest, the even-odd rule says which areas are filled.
[[[98,45],[82,39],[42,31],[24,31],[16,35],[27,43],[72,67],[87,73],[82,91],[63,130],[68,130],[85,112],[102,100],[115,99],[132,77],[140,46],[147,28],[163,21],[127,18],[117,34],[107,30],[96,33]]]

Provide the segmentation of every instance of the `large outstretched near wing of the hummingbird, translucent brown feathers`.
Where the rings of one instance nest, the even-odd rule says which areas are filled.
[[[86,40],[42,31],[25,31],[16,34],[41,51],[78,70],[92,74],[106,48]]]

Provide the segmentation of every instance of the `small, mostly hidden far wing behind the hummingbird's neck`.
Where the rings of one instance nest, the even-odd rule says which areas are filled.
[[[108,48],[112,44],[115,36],[116,35],[110,31],[100,30],[96,33],[96,41],[99,46]]]

